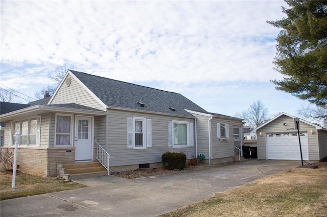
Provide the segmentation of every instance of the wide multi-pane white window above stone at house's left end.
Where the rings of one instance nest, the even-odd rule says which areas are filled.
[[[39,145],[40,117],[14,121],[14,129],[11,133],[12,145],[15,144],[15,133],[19,133],[18,145],[36,146]]]

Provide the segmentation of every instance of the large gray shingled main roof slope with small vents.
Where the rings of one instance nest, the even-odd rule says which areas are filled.
[[[192,115],[184,109],[207,113],[199,105],[179,93],[121,82],[84,72],[69,71],[109,107],[188,117]]]

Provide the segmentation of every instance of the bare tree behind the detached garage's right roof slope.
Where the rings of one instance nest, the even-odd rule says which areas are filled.
[[[316,106],[313,107],[308,105],[307,107],[302,107],[297,111],[298,115],[304,119],[310,121],[316,121],[322,126],[327,126],[327,107],[326,106]]]

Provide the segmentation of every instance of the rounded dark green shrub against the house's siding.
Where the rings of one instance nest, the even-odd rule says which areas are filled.
[[[183,152],[172,153],[167,151],[161,156],[162,167],[166,170],[184,170],[186,167],[186,155]]]

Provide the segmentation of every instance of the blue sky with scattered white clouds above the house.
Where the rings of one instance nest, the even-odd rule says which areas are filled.
[[[234,116],[261,100],[270,116],[305,101],[275,90],[283,1],[1,1],[1,87],[34,97],[66,67],[181,93]],[[16,93],[22,98],[25,95]],[[31,101],[33,99],[30,98]],[[27,101],[17,98],[15,102]]]

